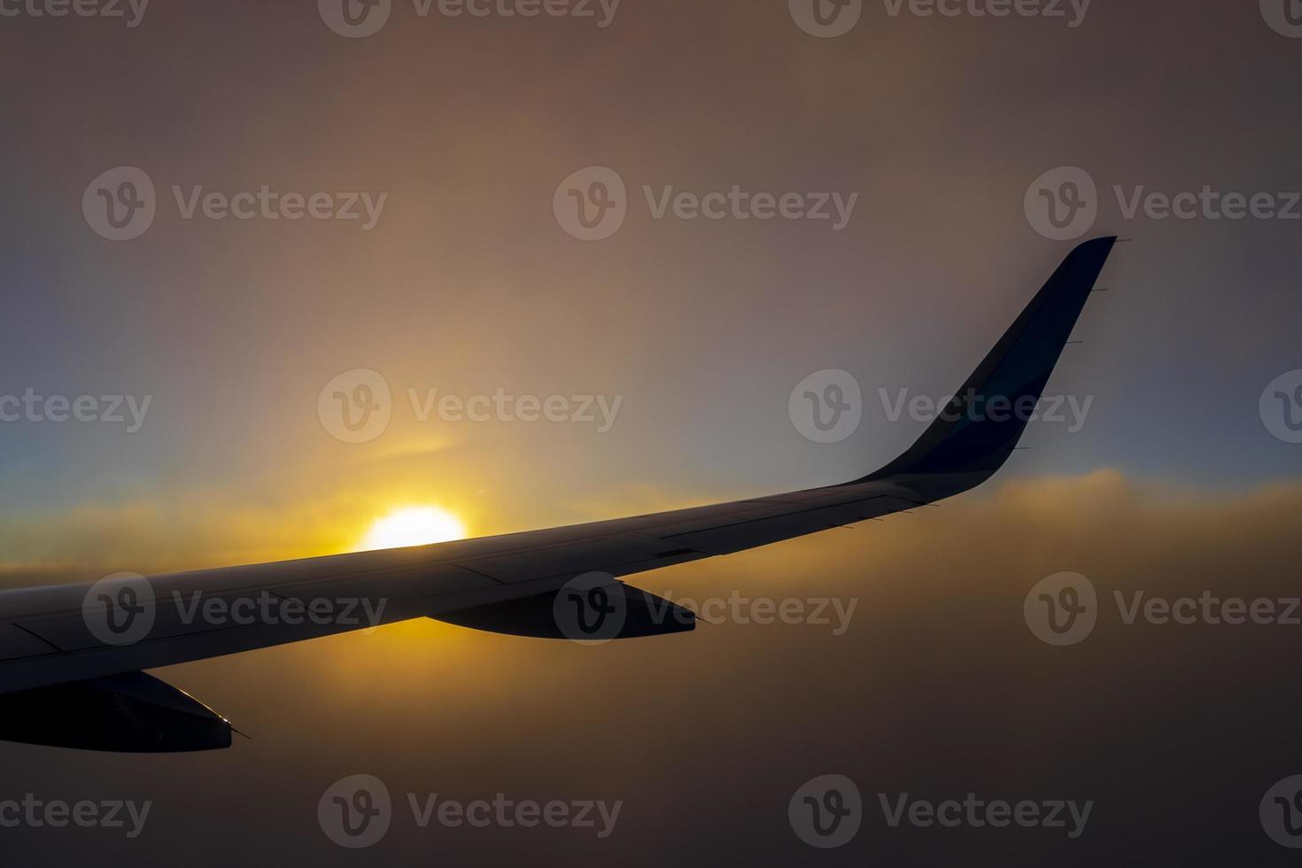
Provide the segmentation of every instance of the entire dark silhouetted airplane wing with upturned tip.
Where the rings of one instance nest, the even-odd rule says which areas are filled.
[[[589,642],[691,630],[693,613],[620,579],[880,518],[993,475],[1115,242],[1072,251],[918,441],[844,484],[436,545],[0,592],[0,739],[229,747],[228,721],[143,670],[410,618]]]

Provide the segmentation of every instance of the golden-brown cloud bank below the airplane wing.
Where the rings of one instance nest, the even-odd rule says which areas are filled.
[[[865,830],[844,851],[857,861],[952,864],[988,851],[1009,864],[1099,864],[1135,842],[1163,858],[1251,852],[1260,793],[1297,770],[1289,721],[1302,700],[1288,664],[1302,627],[1125,625],[1111,600],[1134,590],[1297,595],[1299,506],[1302,480],[1223,492],[1113,471],[1013,479],[885,522],[633,576],[698,601],[854,599],[840,636],[724,619],[583,648],[395,625],[161,670],[254,740],[206,766],[202,791],[186,783],[190,757],[103,773],[122,793],[185,804],[168,812],[171,834],[198,835],[220,816],[268,859],[329,856],[332,845],[302,817],[327,785],[358,770],[397,794],[622,799],[609,841],[547,839],[575,864],[663,864],[684,841],[702,858],[794,863],[806,852],[786,828],[786,800],[827,773],[855,780],[868,802]],[[336,509],[214,508],[204,518],[223,532],[193,536],[210,547],[193,557],[267,545],[263,523],[298,522],[310,535],[314,515]],[[82,510],[43,526],[42,544],[66,539],[78,557],[116,556],[172,526],[158,509]],[[43,550],[35,537],[29,545]],[[1022,604],[1064,570],[1087,575],[1104,609],[1087,640],[1053,648],[1027,629]],[[12,753],[16,793],[86,774],[79,755]],[[1068,848],[1025,830],[892,830],[874,813],[876,793],[1096,807]],[[1190,816],[1223,821],[1191,826]],[[396,822],[385,847],[411,852],[431,834]],[[483,858],[486,847],[523,856],[540,842],[521,828],[437,835],[452,860]],[[198,864],[228,855],[219,847]]]

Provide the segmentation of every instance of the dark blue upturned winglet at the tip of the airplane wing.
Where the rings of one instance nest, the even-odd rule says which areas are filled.
[[[1073,250],[918,441],[846,484],[889,476],[945,496],[990,479],[1017,448],[1116,242],[1095,238]]]

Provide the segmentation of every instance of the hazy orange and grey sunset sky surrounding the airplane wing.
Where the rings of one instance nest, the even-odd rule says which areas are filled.
[[[1001,606],[1016,621],[1026,588],[1064,570],[1249,596],[1293,575],[1302,445],[1279,414],[1302,416],[1302,390],[1279,407],[1273,393],[1302,385],[1302,38],[1282,0],[1029,7],[1062,17],[865,0],[840,35],[802,0],[536,17],[503,13],[527,1],[453,16],[460,4],[393,0],[368,35],[332,3],[51,17],[43,0],[0,0],[0,414],[29,393],[44,414],[0,422],[0,587],[354,550],[404,506],[478,536],[853,479],[926,427],[892,413],[901,397],[950,394],[1074,243],[1116,234],[1129,241],[1108,292],[1051,381],[1079,414],[1034,423],[988,491],[935,515],[655,575],[685,596],[861,595],[848,638],[729,623],[602,656],[415,623],[177,668],[254,742],[146,763],[7,747],[5,790],[116,787],[161,815],[141,842],[4,832],[20,852],[95,842],[111,864],[161,864],[216,825],[268,861],[345,864],[355,854],[326,841],[314,806],[354,772],[395,793],[628,799],[613,843],[408,828],[372,852],[384,864],[535,846],[574,864],[682,848],[789,861],[814,852],[783,819],[797,783],[837,770],[866,791],[871,776],[907,787],[921,756],[924,789],[1130,789],[1035,731],[1057,717],[1032,708],[1055,658]],[[125,230],[104,204],[126,208],[124,181],[154,190]],[[747,204],[720,219],[674,199],[733,189]],[[572,190],[592,208],[613,193],[596,229]],[[1065,207],[1073,190],[1083,208],[1056,228],[1042,191]],[[318,194],[320,217],[286,216]],[[786,194],[799,216],[756,216],[756,197]],[[1198,203],[1181,219],[1151,194]],[[1233,195],[1259,204],[1234,219]],[[792,409],[827,370],[862,396],[831,444]],[[383,429],[344,424],[336,393],[383,390]],[[499,394],[512,413],[484,422],[439,410]],[[87,398],[95,420],[51,420],[51,396]],[[565,420],[519,420],[521,396],[556,396]],[[1062,738],[1122,751],[1100,708],[1155,691],[1169,701],[1134,712],[1131,731],[1202,709],[1189,738],[1220,738],[1203,705],[1128,669],[1134,652],[1193,660],[1182,671],[1208,690],[1242,661],[1256,677],[1226,675],[1216,708],[1247,742],[1253,720],[1224,709],[1285,709],[1256,669],[1288,636],[1258,631],[1212,660],[1200,631],[1221,635],[1104,631],[1066,664],[1078,688],[1049,691],[1075,709]],[[829,664],[824,643],[855,662]],[[1285,750],[1259,735],[1225,773],[1245,791]],[[1125,753],[1117,774],[1174,780],[1177,747],[1198,743],[1151,765]],[[1230,789],[1217,811],[1237,804]],[[1135,796],[1117,798],[1113,837],[1065,863],[1142,837]],[[1174,825],[1194,796],[1172,798]],[[776,819],[756,819],[769,802]],[[1216,816],[1226,837],[1154,852],[1238,843],[1234,815]],[[954,845],[878,832],[837,858],[926,864]]]

